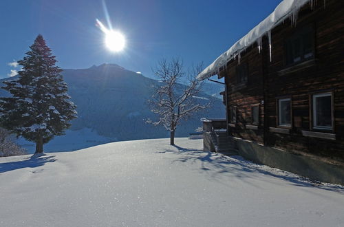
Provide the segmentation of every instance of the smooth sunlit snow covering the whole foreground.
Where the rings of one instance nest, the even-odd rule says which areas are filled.
[[[168,144],[0,158],[0,226],[344,226],[343,186]]]

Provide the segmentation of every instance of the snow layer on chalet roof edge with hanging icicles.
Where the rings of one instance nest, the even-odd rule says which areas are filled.
[[[325,0],[324,0],[325,1]],[[226,52],[221,54],[216,60],[211,63],[206,69],[197,75],[198,80],[204,80],[215,74],[219,73],[219,69],[224,67],[228,61],[238,56],[240,61],[240,53],[246,50],[247,47],[257,42],[258,50],[261,50],[261,38],[264,35],[268,35],[270,43],[270,60],[271,60],[271,30],[276,25],[281,23],[286,18],[290,18],[292,23],[297,20],[297,12],[305,3],[310,2],[311,7],[314,6],[316,0],[283,0],[275,8],[264,21],[261,21],[255,28],[250,30],[248,34],[239,39],[233,46],[231,46]]]

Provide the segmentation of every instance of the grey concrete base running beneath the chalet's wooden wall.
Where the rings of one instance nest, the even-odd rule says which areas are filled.
[[[291,173],[297,173],[298,175],[303,175],[312,180],[344,185],[343,166],[330,164],[303,155],[296,155],[272,147],[266,147],[239,138],[230,139],[235,143],[239,155],[252,162],[266,164]]]

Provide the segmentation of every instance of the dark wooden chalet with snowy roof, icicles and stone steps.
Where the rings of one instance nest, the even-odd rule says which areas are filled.
[[[344,184],[344,1],[272,14],[198,75],[225,81],[226,119],[203,119],[204,149]]]

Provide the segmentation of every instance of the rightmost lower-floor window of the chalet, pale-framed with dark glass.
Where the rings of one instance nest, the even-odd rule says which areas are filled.
[[[332,94],[313,95],[313,128],[332,129]]]

